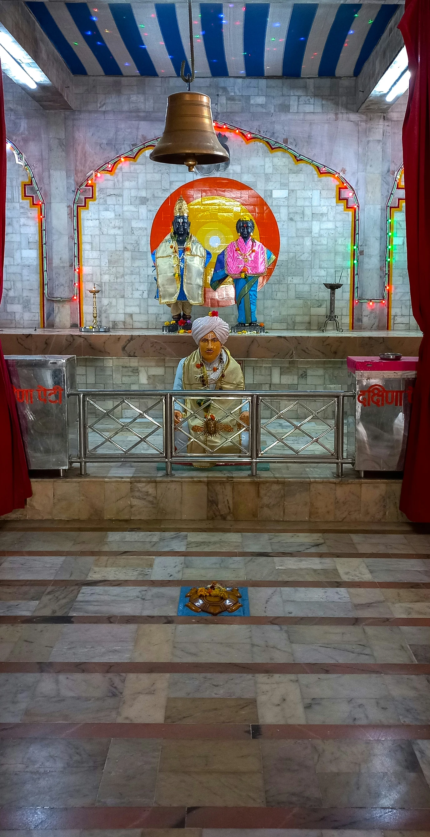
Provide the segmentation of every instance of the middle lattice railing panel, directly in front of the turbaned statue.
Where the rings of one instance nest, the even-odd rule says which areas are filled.
[[[195,400],[195,399],[193,399]],[[191,411],[187,408],[187,403],[184,398],[175,399],[175,410],[182,413],[183,418],[175,425],[175,456],[188,453],[188,443],[198,441],[202,447],[203,454],[223,454],[226,444],[233,447],[233,450],[228,451],[228,455],[238,454],[238,456],[246,456],[249,451],[248,443],[248,427],[239,420],[242,412],[248,411],[248,403],[237,404],[238,399],[232,399],[236,406],[231,410],[223,407],[220,403],[220,398],[202,398],[200,399],[197,410]],[[223,393],[223,401],[228,401],[228,398]],[[221,412],[218,416],[218,444],[207,444],[207,435],[205,434],[205,423],[202,418],[201,410],[205,413],[211,414],[211,403],[217,405],[217,412]],[[231,429],[230,429],[231,428]],[[193,434],[190,433],[192,429]],[[193,451],[194,453],[194,451]]]

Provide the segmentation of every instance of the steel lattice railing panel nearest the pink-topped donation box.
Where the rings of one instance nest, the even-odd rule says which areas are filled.
[[[287,402],[276,398],[276,402],[265,398],[261,402],[262,455],[279,458],[289,454],[326,455],[327,458],[335,455],[335,400],[314,408],[303,399]]]

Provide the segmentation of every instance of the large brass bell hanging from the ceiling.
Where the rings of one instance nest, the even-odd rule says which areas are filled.
[[[183,164],[189,172],[199,164],[228,162],[228,152],[213,130],[209,96],[184,90],[167,97],[166,125],[150,158]]]

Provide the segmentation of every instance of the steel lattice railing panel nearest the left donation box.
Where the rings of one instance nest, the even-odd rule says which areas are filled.
[[[164,455],[162,398],[143,406],[143,398],[115,401],[107,398],[105,406],[87,398],[88,454],[160,454]]]

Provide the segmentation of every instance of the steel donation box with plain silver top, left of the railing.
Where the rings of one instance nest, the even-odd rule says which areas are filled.
[[[8,355],[28,468],[69,467],[78,448],[74,355]]]

